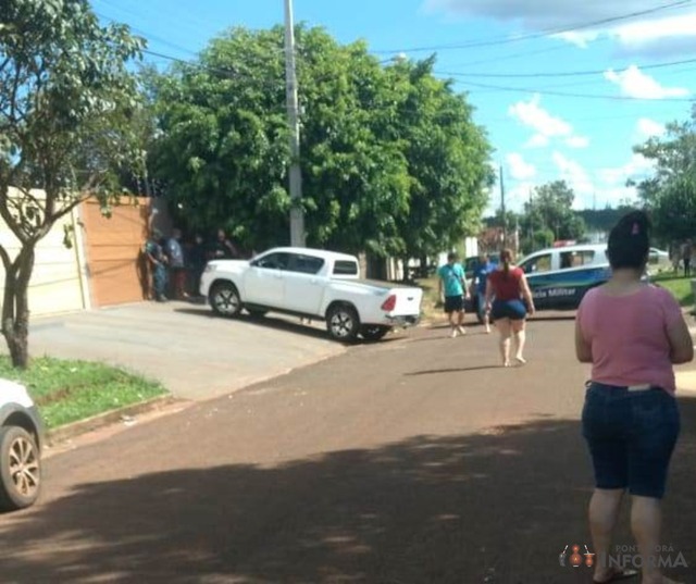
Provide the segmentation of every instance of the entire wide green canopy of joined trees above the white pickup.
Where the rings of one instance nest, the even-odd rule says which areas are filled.
[[[433,254],[477,223],[489,145],[433,60],[383,66],[363,42],[298,26],[302,204],[310,246]],[[194,229],[247,249],[288,243],[283,28],[235,28],[197,63],[150,75],[151,159]]]

